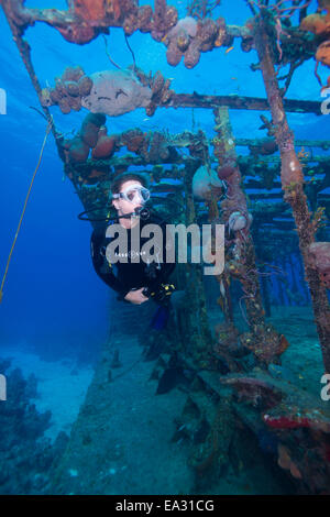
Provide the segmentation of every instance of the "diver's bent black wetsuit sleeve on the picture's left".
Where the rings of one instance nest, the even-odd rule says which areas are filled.
[[[112,266],[108,263],[106,257],[105,246],[105,231],[95,230],[90,238],[90,254],[92,265],[98,276],[109,286],[116,290],[120,298],[123,299],[129,289],[117,278],[112,271]]]

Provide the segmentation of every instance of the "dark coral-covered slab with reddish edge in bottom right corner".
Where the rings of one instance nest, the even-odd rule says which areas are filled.
[[[278,439],[277,464],[298,483],[297,490],[329,494],[330,415],[324,405],[295,383],[256,370],[249,377],[228,375],[221,383],[262,411],[263,424]]]

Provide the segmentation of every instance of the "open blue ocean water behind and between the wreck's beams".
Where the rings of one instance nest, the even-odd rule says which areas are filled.
[[[151,2],[140,2],[143,3]],[[184,1],[170,3],[177,7],[180,15],[185,15]],[[241,25],[251,18],[245,2],[234,0],[222,3],[223,6],[217,8],[216,14],[223,15],[230,24]],[[67,7],[64,0],[28,0],[25,6],[56,9]],[[316,1],[312,7],[315,9],[311,8],[311,12],[316,10]],[[36,110],[31,109],[38,108],[38,99],[12,41],[2,10],[0,29],[0,88],[7,92],[7,114],[0,116],[2,274],[46,127],[44,119]],[[66,42],[57,31],[37,23],[28,30],[26,38],[32,48],[34,69],[43,87],[53,84],[54,78],[67,66],[80,65],[86,74],[111,68],[101,37],[88,45],[74,45]],[[121,67],[131,65],[132,56],[122,30],[111,29],[108,41],[111,57]],[[130,45],[138,66],[145,73],[151,70],[155,74],[161,70],[165,77],[170,77],[172,87],[176,92],[265,97],[261,73],[250,69],[251,63],[257,62],[256,53],[243,53],[238,42],[231,52],[226,53],[223,48],[219,48],[201,54],[198,66],[191,70],[185,68],[183,63],[177,67],[169,66],[165,46],[156,43],[148,34],[135,32],[130,37]],[[314,59],[309,59],[297,69],[287,94],[288,98],[322,100],[314,67]],[[326,82],[327,69],[322,68],[319,73]],[[64,116],[53,108],[52,113],[59,130],[67,133],[79,128],[86,111]],[[250,139],[262,136],[258,130],[260,114],[267,113],[231,110],[234,135]],[[322,140],[329,125],[327,116],[288,113],[288,121],[296,139]],[[205,131],[208,136],[212,135],[211,110],[195,110],[193,120],[191,110],[157,109],[150,118],[143,109],[138,109],[118,118],[108,118],[107,121],[111,133],[135,127],[142,131],[163,129],[178,133],[191,130],[193,124],[195,129]],[[327,152],[318,152],[323,153]],[[98,352],[109,334],[111,311],[117,306],[113,294],[99,280],[92,268],[89,251],[91,227],[88,222],[77,219],[81,210],[73,185],[64,178],[63,163],[51,135],[3,287],[0,305],[0,354],[1,348],[6,350],[6,355],[10,350],[29,351],[48,361],[79,358],[88,365],[98,358]],[[296,267],[300,267],[298,262]],[[308,297],[306,286],[298,286],[298,290],[301,296]],[[275,278],[275,301],[278,301],[278,292]],[[284,294],[282,301],[283,305],[292,305],[287,294]],[[309,309],[311,310],[310,307]],[[298,327],[299,324],[301,322]],[[12,353],[13,358],[14,354],[15,352]],[[148,483],[151,486],[152,481]]]

